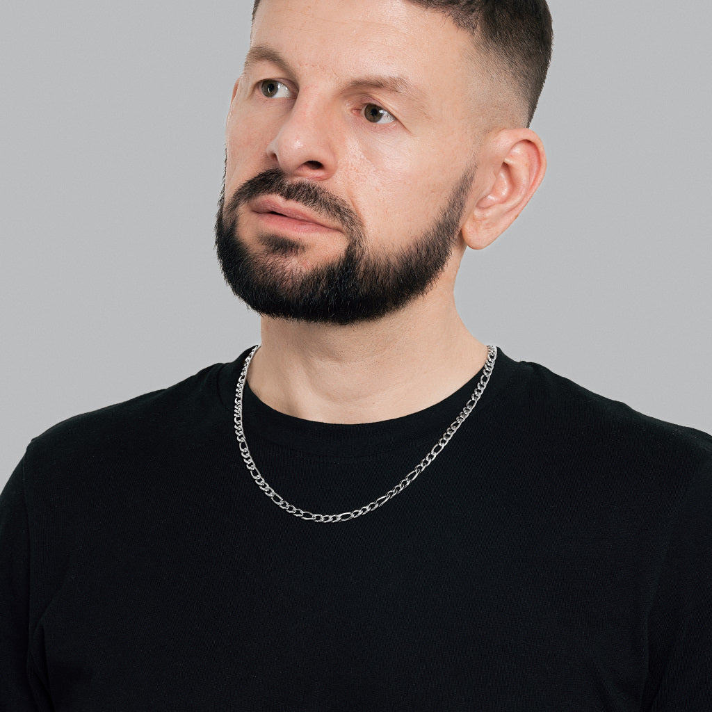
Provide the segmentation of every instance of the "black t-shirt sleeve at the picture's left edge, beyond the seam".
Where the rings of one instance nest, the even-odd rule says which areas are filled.
[[[24,461],[0,494],[0,708],[50,710],[31,673],[29,639],[30,543],[23,486]]]

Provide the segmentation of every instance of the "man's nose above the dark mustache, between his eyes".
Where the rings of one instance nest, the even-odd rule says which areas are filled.
[[[289,176],[325,180],[336,169],[335,125],[323,105],[298,95],[267,147],[272,162]]]

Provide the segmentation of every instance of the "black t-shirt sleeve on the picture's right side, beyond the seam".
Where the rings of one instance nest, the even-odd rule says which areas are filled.
[[[644,710],[712,710],[712,459],[679,509],[649,617]]]

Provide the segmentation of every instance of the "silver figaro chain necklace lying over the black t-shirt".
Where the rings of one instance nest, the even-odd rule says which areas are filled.
[[[477,405],[484,389],[487,386],[489,377],[494,368],[494,362],[497,358],[497,349],[494,346],[487,347],[487,360],[485,362],[482,376],[477,383],[473,394],[470,399],[465,404],[465,407],[461,410],[460,414],[451,426],[443,433],[439,441],[433,446],[433,449],[417,464],[417,466],[410,471],[392,490],[385,493],[382,497],[372,501],[360,509],[355,509],[351,512],[342,512],[341,514],[314,514],[312,512],[304,511],[293,504],[288,503],[281,496],[279,496],[269,484],[266,482],[265,478],[260,474],[254,463],[252,456],[250,454],[250,449],[247,446],[247,441],[245,440],[245,432],[242,427],[242,394],[245,389],[245,381],[247,379],[247,369],[250,365],[252,357],[258,350],[259,345],[253,348],[245,359],[245,365],[242,367],[242,372],[237,382],[237,388],[235,391],[235,434],[237,436],[237,441],[240,446],[240,452],[242,454],[242,459],[245,461],[248,471],[250,472],[253,480],[257,483],[257,486],[278,506],[284,511],[293,514],[295,517],[300,517],[313,522],[347,522],[350,519],[355,519],[360,517],[362,514],[367,514],[375,510],[375,508],[380,507],[389,501],[390,498],[401,493],[415,478],[443,451],[445,446],[449,443],[450,439],[457,432],[459,427],[465,422],[465,419],[473,411],[474,407]]]

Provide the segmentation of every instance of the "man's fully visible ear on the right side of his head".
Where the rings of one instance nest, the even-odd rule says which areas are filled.
[[[465,243],[476,250],[493,243],[517,219],[546,172],[541,139],[529,129],[505,129],[483,152],[486,183],[462,228]]]

